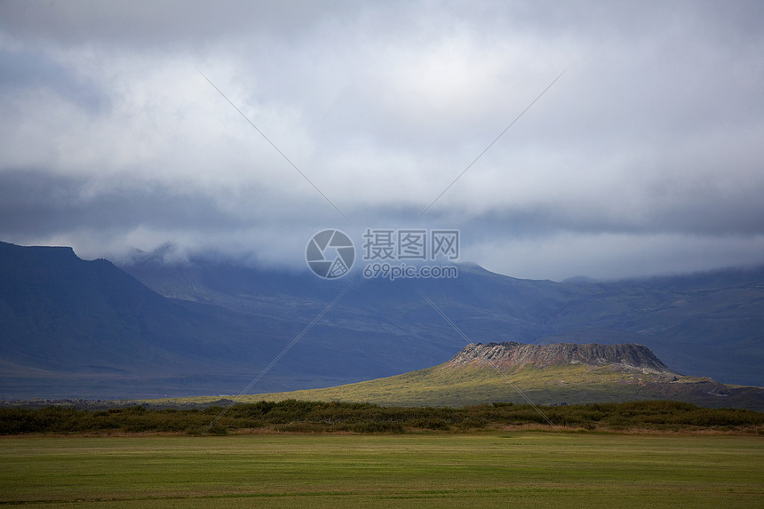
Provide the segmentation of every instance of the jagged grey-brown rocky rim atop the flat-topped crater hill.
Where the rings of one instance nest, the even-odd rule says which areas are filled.
[[[647,346],[624,343],[621,345],[526,345],[523,343],[473,343],[456,354],[448,364],[451,367],[474,365],[496,366],[511,370],[532,364],[545,368],[555,364],[609,365],[618,370],[643,373],[675,374],[653,354]]]

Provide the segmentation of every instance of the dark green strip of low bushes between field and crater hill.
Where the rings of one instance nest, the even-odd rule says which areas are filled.
[[[465,408],[380,407],[370,403],[240,403],[229,408],[151,409],[146,405],[110,410],[62,406],[0,409],[0,434],[23,433],[407,433],[421,430],[476,431],[507,425],[550,425],[585,430],[700,428],[764,433],[764,413],[707,409],[686,402],[646,401],[532,407],[512,403]],[[552,428],[550,425],[550,429]]]

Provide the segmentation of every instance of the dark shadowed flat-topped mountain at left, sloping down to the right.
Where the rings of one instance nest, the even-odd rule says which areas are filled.
[[[69,248],[0,244],[6,395],[25,383],[44,387],[38,395],[93,394],[104,384],[104,394],[130,394],[130,385],[151,390],[169,378],[183,386],[180,378],[200,372],[229,373],[236,357],[264,364],[276,338],[258,325],[223,308],[163,298],[107,260],[83,261]],[[252,341],[253,330],[270,340]]]

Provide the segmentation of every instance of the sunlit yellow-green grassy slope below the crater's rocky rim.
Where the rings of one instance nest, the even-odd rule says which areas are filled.
[[[371,402],[386,406],[453,406],[482,402],[527,402],[537,405],[637,400],[676,400],[701,406],[764,410],[764,389],[726,386],[711,378],[666,377],[622,372],[609,366],[525,366],[499,373],[491,368],[451,367],[448,363],[357,384],[289,393],[247,394],[239,402],[306,401]],[[210,402],[219,398],[189,398]]]

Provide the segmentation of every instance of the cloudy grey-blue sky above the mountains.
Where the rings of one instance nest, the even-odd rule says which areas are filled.
[[[0,240],[561,281],[764,263],[764,4],[0,2]]]

